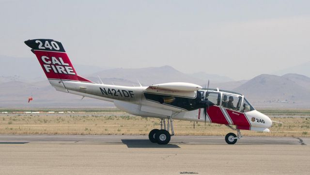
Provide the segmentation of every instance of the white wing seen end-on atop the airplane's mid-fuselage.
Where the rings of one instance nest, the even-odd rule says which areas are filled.
[[[145,91],[150,93],[194,98],[196,96],[196,90],[199,89],[202,89],[202,87],[196,84],[174,82],[151,85],[147,87]]]

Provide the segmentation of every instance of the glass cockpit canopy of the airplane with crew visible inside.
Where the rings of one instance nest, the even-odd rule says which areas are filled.
[[[255,110],[254,107],[248,102],[248,100],[239,93],[219,90],[208,89],[207,94],[205,89],[199,90],[202,93],[202,100],[208,100],[213,102],[214,105],[228,108],[238,112],[248,112]]]

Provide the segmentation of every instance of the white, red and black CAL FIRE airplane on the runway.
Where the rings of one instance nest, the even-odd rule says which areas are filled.
[[[51,39],[27,40],[51,86],[56,90],[113,102],[129,114],[160,119],[160,130],[149,132],[152,143],[166,145],[174,135],[173,120],[224,124],[237,132],[225,136],[233,145],[242,138],[240,130],[269,132],[272,120],[258,112],[244,95],[232,91],[202,88],[184,82],[148,87],[126,87],[94,83],[79,76],[62,43]],[[166,122],[167,120],[167,122]],[[171,133],[170,133],[171,130]]]

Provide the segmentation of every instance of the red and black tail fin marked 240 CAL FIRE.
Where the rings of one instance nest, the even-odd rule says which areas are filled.
[[[77,74],[60,42],[34,39],[25,41],[25,44],[38,58],[47,79],[93,83]]]

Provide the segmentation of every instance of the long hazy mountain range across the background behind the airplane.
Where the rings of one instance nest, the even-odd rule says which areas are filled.
[[[3,58],[3,57],[2,57]],[[10,64],[17,64],[19,58],[11,58]],[[20,58],[21,59],[21,58]],[[3,59],[0,59],[0,61]],[[25,59],[26,60],[26,59]],[[84,98],[56,91],[51,87],[40,67],[34,62],[22,60],[25,65],[19,71],[12,65],[4,66],[0,70],[0,107],[28,106],[27,99],[32,94],[34,100],[31,102],[37,107],[69,107],[69,106],[110,106],[109,102]],[[31,71],[27,68],[33,67]],[[101,83],[98,75],[104,84],[115,84],[123,86],[143,86],[167,82],[189,82],[205,86],[210,80],[210,88],[220,88],[243,93],[246,98],[255,106],[281,106],[281,107],[309,107],[310,106],[310,77],[300,74],[285,74],[282,76],[261,74],[250,80],[231,81],[231,78],[216,74],[207,73],[182,73],[171,66],[147,67],[139,69],[109,69],[102,70],[99,67],[77,66],[77,71],[93,82]],[[7,71],[16,73],[10,75]],[[92,73],[102,70],[96,73]],[[24,73],[25,72],[25,73]],[[19,75],[22,74],[23,75]],[[88,73],[88,76],[85,74]],[[42,75],[43,74],[43,75]],[[9,76],[10,75],[10,76]],[[27,76],[29,78],[24,78]]]

